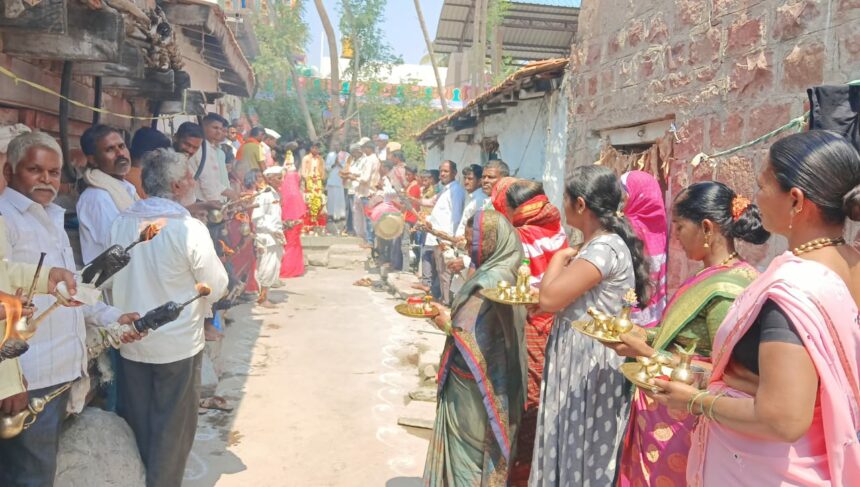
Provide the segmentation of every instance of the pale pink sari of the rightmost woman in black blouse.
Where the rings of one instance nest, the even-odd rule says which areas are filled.
[[[815,414],[794,443],[767,441],[700,420],[693,433],[687,482],[711,485],[825,485],[860,481],[860,389],[857,306],[830,269],[787,252],[735,300],[714,341],[708,389],[748,397],[723,381],[732,350],[766,300],[788,316],[818,372]],[[854,480],[851,480],[854,479]]]

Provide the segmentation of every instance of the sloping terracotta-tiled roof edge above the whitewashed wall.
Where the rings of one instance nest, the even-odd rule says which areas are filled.
[[[430,125],[424,128],[418,135],[415,136],[417,140],[429,140],[434,138],[444,137],[448,131],[448,126],[451,123],[457,121],[458,119],[468,118],[473,116],[473,110],[476,108],[483,107],[487,103],[492,102],[494,99],[497,99],[499,96],[503,96],[507,93],[514,92],[522,86],[522,83],[533,80],[536,78],[560,78],[564,76],[564,70],[567,68],[569,63],[569,59],[558,58],[558,59],[545,59],[543,61],[537,61],[534,63],[529,63],[523,68],[517,70],[510,76],[508,76],[504,81],[497,84],[496,86],[490,88],[489,90],[481,93],[469,103],[466,104],[463,108],[453,112],[449,115],[445,115],[441,118],[436,119]]]

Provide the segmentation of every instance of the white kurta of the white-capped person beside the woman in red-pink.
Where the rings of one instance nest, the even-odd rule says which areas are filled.
[[[257,233],[257,282],[260,287],[272,287],[280,279],[284,255],[281,202],[272,191],[258,195],[254,202],[257,207],[251,213],[251,220]]]

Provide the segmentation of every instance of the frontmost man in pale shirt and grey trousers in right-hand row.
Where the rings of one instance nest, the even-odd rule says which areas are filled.
[[[463,217],[463,207],[466,200],[466,192],[463,186],[457,182],[457,164],[453,161],[444,161],[439,165],[439,179],[442,182],[442,191],[436,199],[433,211],[427,223],[434,230],[444,232],[450,236],[454,235],[457,225]],[[444,249],[439,244],[435,235],[428,234],[424,246],[432,249],[434,257],[434,270],[439,279],[440,300],[443,304],[451,302],[451,272],[445,262]],[[426,284],[428,285],[429,284]]]

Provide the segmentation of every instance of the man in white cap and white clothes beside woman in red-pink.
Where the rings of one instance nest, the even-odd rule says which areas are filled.
[[[257,304],[264,308],[274,307],[269,301],[269,288],[278,284],[281,271],[281,258],[284,256],[284,224],[281,220],[281,201],[272,188],[281,187],[283,168],[272,166],[263,172],[269,185],[257,195],[251,220],[256,228],[257,283],[260,285],[260,298]]]

